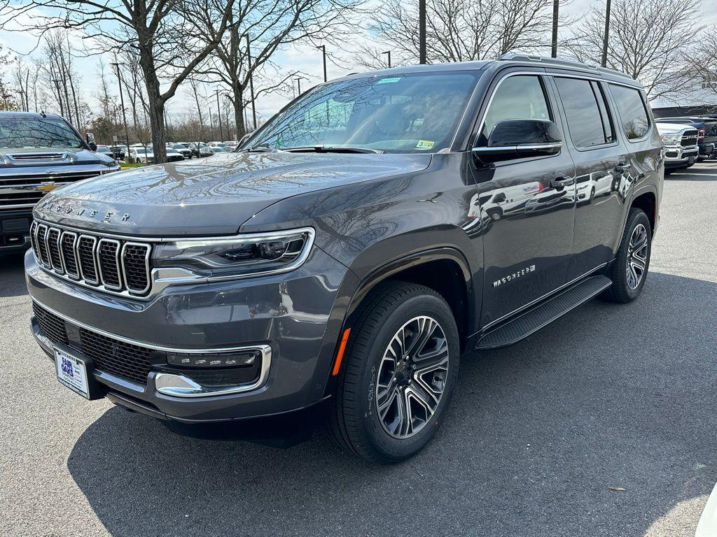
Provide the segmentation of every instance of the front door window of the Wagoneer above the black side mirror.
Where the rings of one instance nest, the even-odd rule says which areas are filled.
[[[540,79],[521,75],[503,79],[495,90],[478,145],[485,145],[495,124],[503,120],[550,120],[548,101]]]

